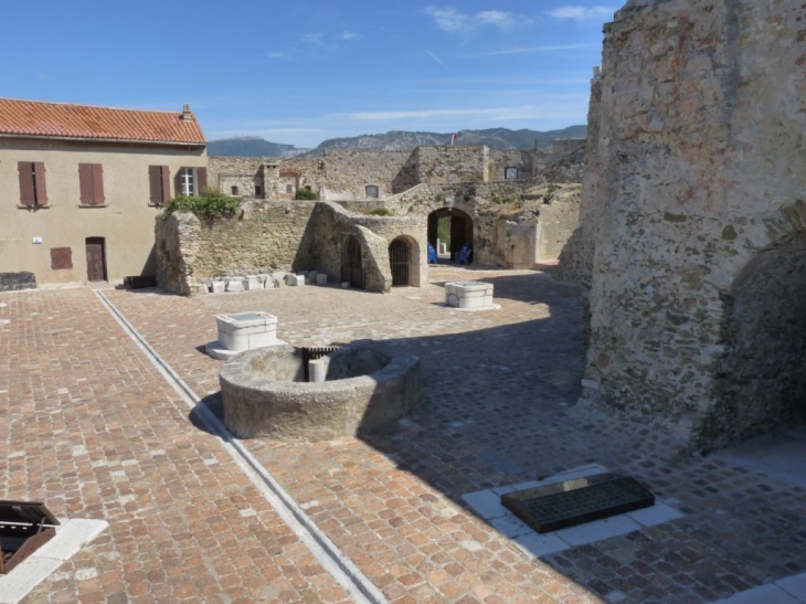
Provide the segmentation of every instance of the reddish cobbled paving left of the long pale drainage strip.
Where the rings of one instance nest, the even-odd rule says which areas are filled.
[[[0,317],[0,497],[109,523],[23,602],[350,602],[89,289]]]

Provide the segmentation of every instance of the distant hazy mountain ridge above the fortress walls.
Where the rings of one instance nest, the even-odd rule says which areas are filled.
[[[534,149],[548,147],[561,138],[584,138],[587,126],[569,126],[561,130],[460,130],[454,145],[487,145],[492,149]],[[354,149],[362,151],[405,151],[421,145],[449,145],[455,133],[404,133],[392,130],[383,135],[363,135],[350,138],[331,138],[316,149],[301,149],[294,145],[269,142],[261,137],[244,136],[212,140],[208,155],[219,157],[319,157],[325,149]]]

